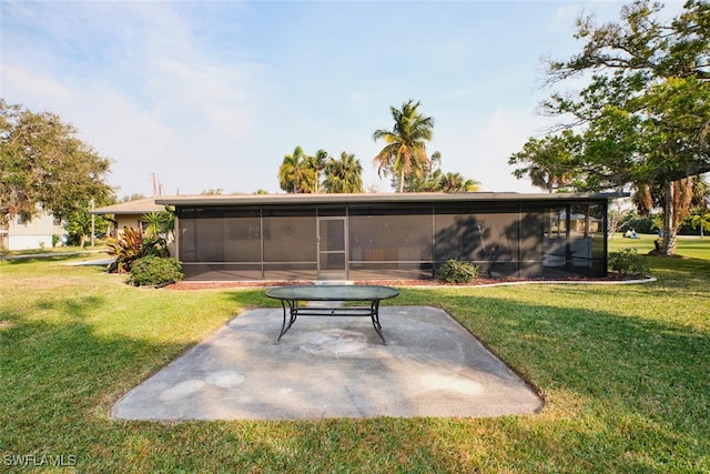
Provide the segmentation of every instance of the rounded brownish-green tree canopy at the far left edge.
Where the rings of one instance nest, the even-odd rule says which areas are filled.
[[[0,222],[40,209],[67,218],[91,199],[108,199],[110,161],[75,135],[54,113],[0,99]]]

